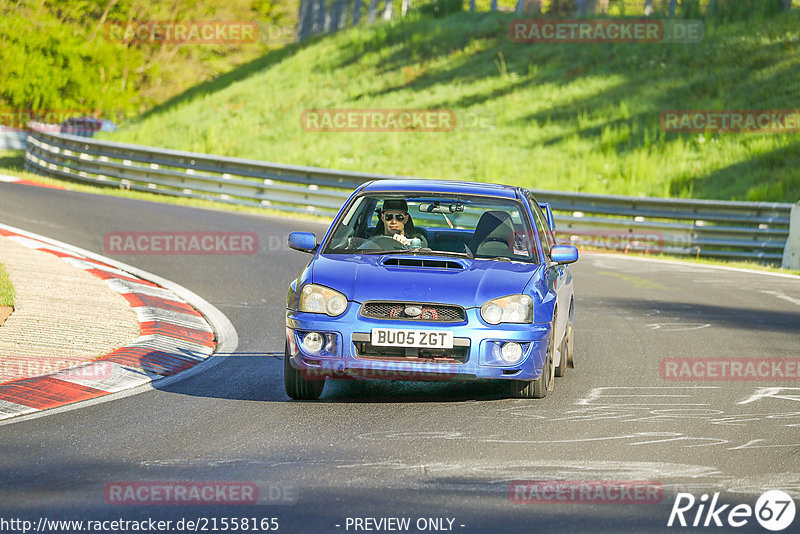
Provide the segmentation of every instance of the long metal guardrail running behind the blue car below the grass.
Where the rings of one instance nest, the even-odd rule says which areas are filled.
[[[181,152],[32,132],[25,167],[94,184],[333,216],[358,185],[408,176]],[[791,204],[639,198],[534,190],[560,238],[580,245],[780,263]]]

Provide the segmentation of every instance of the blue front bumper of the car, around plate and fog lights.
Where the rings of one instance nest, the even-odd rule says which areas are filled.
[[[550,323],[489,325],[480,318],[478,308],[467,309],[467,320],[459,323],[371,319],[361,316],[360,308],[360,304],[350,302],[339,317],[287,310],[286,339],[291,365],[312,378],[534,380],[542,373]],[[364,342],[368,342],[372,328],[379,327],[448,330],[453,333],[454,350],[441,358],[398,357],[391,350],[378,354],[375,348],[366,355]],[[321,351],[303,350],[301,341],[307,332],[326,336]],[[502,343],[510,341],[523,347],[522,358],[513,364],[499,356]]]

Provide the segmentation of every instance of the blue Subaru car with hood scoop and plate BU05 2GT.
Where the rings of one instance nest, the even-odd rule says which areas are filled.
[[[573,362],[578,250],[520,187],[380,180],[356,189],[289,286],[284,383],[326,378],[502,380],[542,398]]]

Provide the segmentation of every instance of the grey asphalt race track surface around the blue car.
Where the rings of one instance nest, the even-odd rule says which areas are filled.
[[[279,532],[328,533],[355,532],[348,518],[407,517],[407,532],[421,531],[418,518],[451,518],[463,533],[675,532],[709,530],[666,527],[677,492],[752,506],[780,489],[800,503],[800,382],[660,373],[664,358],[796,357],[796,278],[585,254],[572,267],[577,369],[547,398],[505,398],[487,384],[347,381],[305,403],[285,396],[280,357],[286,287],[309,257],[285,238],[321,237],[323,226],[16,184],[0,184],[0,222],[101,254],[112,231],[251,231],[261,244],[254,256],[109,254],[205,298],[231,320],[239,347],[156,390],[0,426],[0,518],[275,517]],[[509,498],[512,481],[550,479],[653,481],[665,495],[658,504]],[[198,480],[253,482],[262,502],[104,502],[108,483]],[[709,528],[767,532],[753,519]]]

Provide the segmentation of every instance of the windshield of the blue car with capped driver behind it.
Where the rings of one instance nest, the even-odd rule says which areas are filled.
[[[454,195],[362,195],[336,222],[324,254],[434,254],[536,262],[519,201]]]

